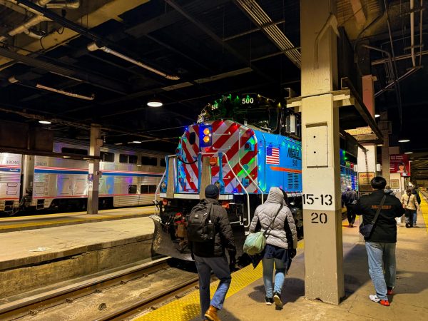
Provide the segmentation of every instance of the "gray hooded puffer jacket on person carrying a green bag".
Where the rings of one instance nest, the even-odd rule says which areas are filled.
[[[280,188],[270,188],[269,195],[267,195],[267,200],[265,203],[258,205],[258,208],[255,209],[254,218],[250,225],[250,233],[255,233],[258,222],[260,222],[261,231],[265,232],[275,217],[277,211],[280,209],[281,203],[283,205],[282,210],[280,213],[278,213],[277,217],[275,218],[275,222],[266,233],[266,243],[270,245],[276,245],[279,248],[288,248],[287,236],[285,234],[284,228],[285,220],[287,220],[292,233],[293,248],[297,248],[296,225],[292,218],[290,208],[288,208],[285,204],[282,190],[280,190]]]

